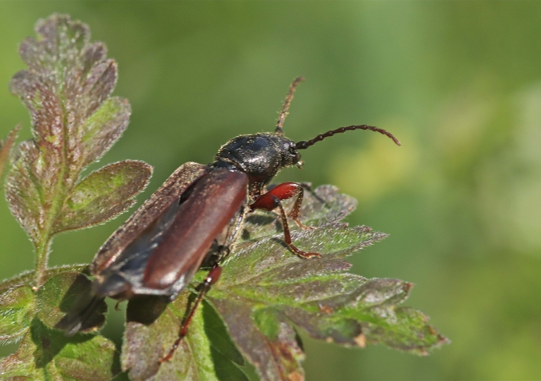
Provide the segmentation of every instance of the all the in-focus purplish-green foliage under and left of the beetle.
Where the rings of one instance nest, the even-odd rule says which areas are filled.
[[[82,265],[47,267],[51,239],[127,210],[151,167],[125,160],[81,176],[120,138],[130,104],[111,97],[116,62],[106,59],[104,44],[89,42],[87,25],[53,15],[39,20],[36,32],[37,39],[20,46],[28,68],[10,85],[30,110],[32,140],[15,147],[15,128],[0,144],[0,176],[9,167],[8,205],[36,251],[35,270],[0,284],[0,341],[22,340],[18,352],[0,362],[2,380],[110,380],[122,368],[134,381],[301,381],[299,334],[420,355],[447,342],[423,313],[400,306],[412,284],[347,272],[351,265],[344,258],[386,235],[342,222],[356,201],[332,186],[306,192],[301,218],[312,228],[292,232],[295,244],[321,258],[291,253],[273,214],[249,215],[242,239],[221,264],[220,282],[170,361],[160,359],[178,337],[208,270],[200,270],[171,303],[133,298],[120,358],[98,334],[105,303],[82,332],[66,337],[56,327],[74,303],[91,297],[91,281]]]

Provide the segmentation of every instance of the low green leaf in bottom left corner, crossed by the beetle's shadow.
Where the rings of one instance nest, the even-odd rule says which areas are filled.
[[[68,267],[69,268],[69,267]],[[82,270],[82,267],[72,267]],[[66,267],[63,268],[66,270]],[[0,339],[24,335],[18,352],[0,363],[2,380],[110,380],[119,371],[114,344],[104,337],[79,333],[66,337],[60,323],[75,303],[88,303],[91,282],[80,272],[49,270],[51,277],[37,291],[15,286],[0,296]],[[25,281],[28,274],[4,284]],[[95,331],[103,325],[106,304],[83,330]]]

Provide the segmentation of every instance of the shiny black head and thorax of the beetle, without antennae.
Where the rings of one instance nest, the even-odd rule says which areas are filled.
[[[268,183],[280,169],[301,165],[293,140],[275,133],[240,135],[225,143],[216,161],[228,162],[247,174],[250,183]]]

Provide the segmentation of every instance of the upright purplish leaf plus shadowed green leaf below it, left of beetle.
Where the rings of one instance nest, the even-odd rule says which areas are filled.
[[[30,111],[32,139],[20,143],[6,179],[13,216],[35,246],[36,267],[0,285],[0,340],[22,339],[4,358],[6,379],[109,380],[118,372],[115,347],[95,334],[65,337],[54,326],[90,281],[81,267],[48,269],[55,234],[105,222],[135,202],[151,176],[144,162],[109,164],[88,176],[81,172],[99,159],[128,126],[128,100],[111,97],[117,68],[101,42],[89,42],[87,25],[68,16],[39,20],[37,38],[19,53],[27,69],[10,84]],[[1,145],[0,171],[8,163],[17,129]],[[106,310],[101,306],[101,313]],[[87,329],[97,330],[96,315]]]

